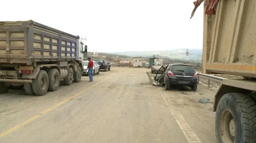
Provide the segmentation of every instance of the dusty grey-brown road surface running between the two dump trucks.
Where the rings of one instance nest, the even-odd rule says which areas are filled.
[[[146,72],[112,67],[44,96],[10,90],[0,95],[0,142],[216,142],[214,91],[164,91]]]

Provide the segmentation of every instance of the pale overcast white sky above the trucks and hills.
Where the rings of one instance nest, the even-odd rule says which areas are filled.
[[[189,19],[194,1],[12,0],[1,2],[0,21],[34,20],[86,36],[88,51],[202,49],[203,4]]]

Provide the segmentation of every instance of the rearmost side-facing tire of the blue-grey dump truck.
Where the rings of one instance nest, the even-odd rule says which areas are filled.
[[[35,95],[45,95],[49,87],[49,77],[45,70],[40,70],[36,78],[33,79],[32,88]]]

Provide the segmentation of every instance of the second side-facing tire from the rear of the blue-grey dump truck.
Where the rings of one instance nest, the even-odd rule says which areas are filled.
[[[48,72],[48,78],[49,78],[49,91],[57,91],[59,88],[59,71],[57,69],[49,69]]]

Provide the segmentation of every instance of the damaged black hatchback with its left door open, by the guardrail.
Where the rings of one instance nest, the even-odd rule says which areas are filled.
[[[183,85],[197,90],[198,77],[193,66],[187,64],[169,64],[164,67],[160,76],[155,76],[155,81],[164,85],[165,90],[169,90],[171,85]],[[161,67],[161,68],[162,68]],[[160,72],[160,69],[159,69]]]

